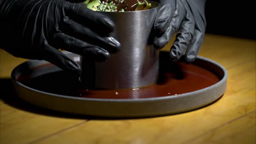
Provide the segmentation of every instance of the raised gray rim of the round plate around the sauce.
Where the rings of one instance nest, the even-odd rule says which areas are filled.
[[[65,54],[70,57],[77,57],[78,55],[70,52],[65,52]],[[222,79],[217,82],[216,84],[206,87],[203,89],[199,89],[197,91],[193,92],[188,92],[188,93],[183,93],[183,94],[177,94],[177,95],[168,95],[165,97],[155,97],[155,98],[141,98],[141,99],[98,99],[98,98],[79,98],[79,97],[72,97],[69,95],[61,95],[61,94],[54,94],[54,93],[48,93],[48,92],[43,92],[39,91],[38,89],[34,89],[31,87],[28,87],[26,85],[23,85],[21,82],[15,79],[15,71],[19,68],[22,67],[22,64],[24,63],[36,63],[34,65],[42,65],[46,64],[49,62],[46,61],[37,61],[37,60],[29,60],[26,61],[20,65],[18,65],[16,68],[13,69],[11,72],[11,79],[14,83],[14,87],[17,88],[17,85],[19,86],[18,91],[20,92],[20,88],[22,91],[30,91],[30,94],[34,95],[39,95],[40,98],[42,98],[42,95],[47,95],[48,99],[50,98],[57,98],[57,100],[64,100],[62,101],[63,104],[58,104],[62,105],[62,107],[56,107],[56,103],[53,103],[52,101],[50,104],[48,104],[44,100],[42,101],[37,101],[37,98],[33,97],[27,97],[27,95],[22,95],[18,93],[18,96],[21,97],[22,99],[28,101],[28,103],[33,103],[34,105],[39,105],[44,108],[48,108],[51,110],[57,110],[57,111],[63,111],[63,112],[68,112],[68,113],[77,113],[77,114],[82,114],[82,115],[92,115],[92,116],[100,116],[100,117],[148,117],[148,116],[161,116],[161,115],[168,115],[168,114],[173,114],[173,113],[179,113],[179,112],[185,112],[185,111],[190,111],[197,109],[199,107],[205,106],[207,104],[212,103],[213,101],[216,101],[219,99],[225,92],[226,89],[226,81],[228,79],[228,72],[226,69],[220,65],[219,63],[205,58],[201,56],[197,56],[197,59],[199,59],[202,62],[206,63],[211,63],[214,65],[214,67],[218,67],[222,71],[223,75]],[[39,63],[39,64],[38,64]],[[216,73],[216,71],[214,71]],[[210,91],[210,96],[202,94],[206,94],[206,92]],[[17,92],[17,89],[16,89]],[[207,93],[208,94],[208,93]],[[209,96],[209,97],[208,97]],[[203,98],[202,98],[203,97]],[[59,99],[60,98],[60,99]],[[194,100],[193,98],[197,99]],[[192,100],[191,100],[192,99]],[[67,104],[68,100],[74,100],[71,101],[71,103],[76,103],[71,106],[64,106]],[[84,102],[83,102],[84,101]],[[178,101],[178,102],[177,102]],[[194,101],[190,104],[189,101]],[[55,101],[56,102],[56,101]],[[58,101],[59,103],[59,101]],[[60,102],[61,103],[61,102]],[[79,104],[77,104],[79,103]],[[177,104],[181,103],[181,104]],[[182,104],[184,103],[184,104]],[[93,105],[94,108],[97,106],[101,106],[103,104],[104,106],[102,107],[97,107],[96,110],[88,110],[89,108],[84,106],[84,104],[89,104],[90,106]],[[123,106],[123,104],[126,106]],[[94,106],[95,105],[95,106]],[[156,109],[152,109],[152,105],[156,106]],[[109,110],[105,110],[106,107],[109,107]],[[134,107],[130,107],[134,106]],[[120,109],[118,109],[120,107]],[[127,108],[129,107],[129,108]],[[105,108],[105,109],[104,109]],[[79,110],[76,110],[79,109]],[[114,111],[114,113],[113,113]],[[124,111],[124,113],[123,113]],[[94,113],[96,112],[96,113]]]

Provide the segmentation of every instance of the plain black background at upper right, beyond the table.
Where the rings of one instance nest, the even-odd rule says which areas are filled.
[[[256,5],[254,3],[254,0],[207,0],[205,9],[206,33],[256,39]]]

